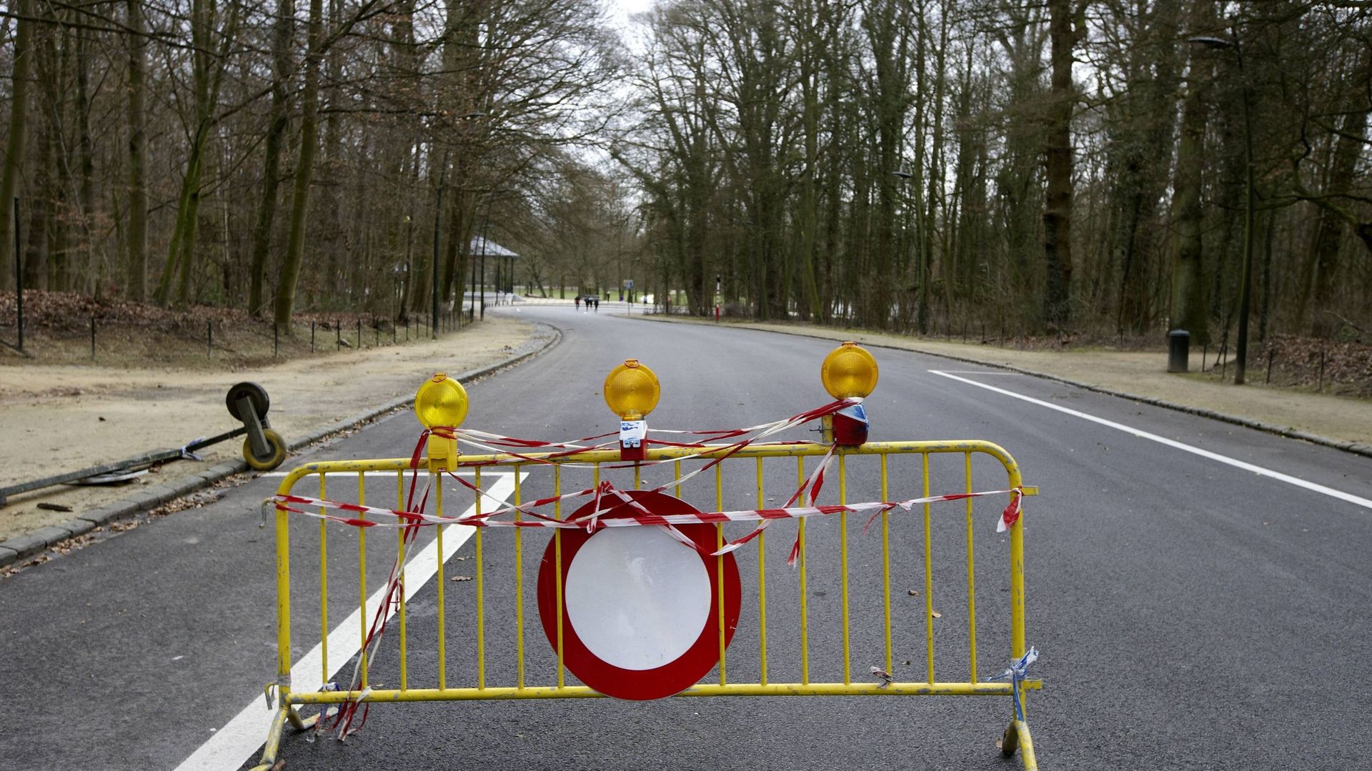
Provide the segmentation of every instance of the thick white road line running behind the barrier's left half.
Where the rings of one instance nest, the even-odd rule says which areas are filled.
[[[499,479],[488,490],[490,497],[486,497],[484,501],[490,502],[491,497],[505,501],[513,491],[514,473],[501,473]],[[476,506],[472,505],[462,516],[475,513]],[[468,525],[443,525],[443,550],[446,551],[443,561],[446,562],[453,554],[457,554],[457,550],[466,543],[473,532],[476,532],[476,528]],[[405,600],[409,601],[436,572],[438,539],[434,539],[406,562]],[[375,613],[376,608],[380,606],[384,594],[386,586],[383,584],[368,597],[366,608],[369,615]],[[391,615],[394,615],[394,610]],[[361,627],[362,610],[361,608],[354,608],[353,613],[329,632],[329,678],[336,675],[357,654],[361,648],[361,632],[358,631]],[[320,682],[320,672],[324,667],[322,659],[322,648],[316,645],[309,653],[295,661],[291,667],[291,682],[299,686],[295,690],[320,690],[322,685]],[[176,771],[210,771],[218,768],[233,771],[241,767],[257,753],[262,742],[266,741],[273,715],[274,712],[266,708],[266,700],[258,696],[229,720],[228,724],[220,728],[210,741],[200,745],[191,757],[187,757],[177,766]],[[287,724],[285,730],[291,730],[289,724]]]

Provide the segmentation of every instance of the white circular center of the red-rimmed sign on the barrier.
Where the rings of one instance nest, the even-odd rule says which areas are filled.
[[[711,612],[709,572],[659,527],[605,528],[567,568],[567,617],[587,649],[624,669],[675,661]]]

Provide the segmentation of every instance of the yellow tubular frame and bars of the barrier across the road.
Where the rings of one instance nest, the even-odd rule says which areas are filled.
[[[676,477],[681,477],[681,460],[682,458],[698,458],[701,461],[709,461],[720,454],[729,454],[727,451],[733,449],[726,446],[709,446],[707,450],[687,449],[687,447],[668,447],[649,450],[646,454],[646,461],[675,461]],[[729,454],[729,458],[715,466],[715,503],[718,510],[723,510],[723,468],[724,465],[737,465],[734,461],[755,458],[757,468],[757,508],[764,508],[763,499],[763,460],[777,458],[777,457],[793,457],[796,458],[796,475],[799,482],[805,479],[805,458],[822,458],[829,453],[829,447],[825,444],[752,444]],[[852,455],[879,455],[881,462],[881,499],[886,499],[888,494],[888,468],[886,460],[893,454],[919,454],[922,455],[922,475],[923,475],[923,490],[922,494],[927,497],[929,490],[929,457],[936,454],[962,454],[963,455],[963,475],[966,479],[966,490],[959,493],[973,493],[971,488],[971,460],[974,454],[988,455],[999,461],[1007,473],[1008,488],[1022,490],[1024,495],[1036,495],[1037,488],[1025,487],[1021,480],[1019,466],[1015,464],[1014,458],[1010,457],[1000,446],[991,442],[981,440],[958,440],[958,442],[870,442],[856,447],[840,447],[836,451],[837,461],[837,480],[838,480],[838,495],[840,502],[847,502],[847,458]],[[532,458],[532,460],[531,460]],[[595,479],[600,480],[600,464],[619,464],[620,454],[617,450],[594,450],[583,451],[571,455],[547,455],[547,454],[525,454],[523,457],[516,455],[461,455],[458,458],[458,466],[472,466],[476,469],[476,484],[480,487],[480,473],[483,468],[513,468],[514,469],[514,502],[520,502],[520,479],[521,472],[527,472],[535,466],[553,465],[553,493],[561,493],[561,468],[563,464],[578,464],[595,465]],[[425,465],[421,466],[427,469],[429,475],[440,475],[445,468],[450,468],[450,461],[447,460],[427,460]],[[331,475],[357,475],[358,483],[358,503],[365,505],[365,475],[366,472],[395,472],[397,473],[397,508],[405,506],[405,488],[407,483],[407,473],[410,472],[409,458],[388,458],[388,460],[362,460],[362,461],[328,461],[328,462],[314,462],[302,465],[291,471],[285,479],[281,480],[279,487],[279,494],[291,494],[292,488],[298,482],[306,477],[316,476],[320,480],[318,498],[327,498],[327,484],[325,479]],[[639,469],[634,469],[634,483],[635,487],[639,483]],[[436,513],[443,516],[443,499],[442,493],[438,486],[435,486],[436,498]],[[676,494],[681,494],[681,488],[676,488]],[[477,512],[480,512],[482,501],[476,497]],[[840,564],[841,564],[841,608],[842,608],[842,646],[844,646],[844,678],[842,682],[829,682],[818,683],[809,680],[809,660],[808,660],[808,615],[807,615],[807,569],[805,569],[805,525],[807,520],[804,517],[797,520],[799,527],[799,542],[800,551],[797,560],[797,580],[800,587],[799,598],[799,613],[800,613],[800,657],[801,657],[801,680],[792,683],[775,683],[770,682],[767,676],[767,575],[766,575],[766,560],[763,558],[766,550],[766,534],[761,534],[756,541],[756,547],[759,550],[757,560],[757,602],[759,602],[759,656],[760,656],[760,679],[756,683],[731,683],[727,680],[727,668],[724,657],[724,609],[723,609],[723,595],[720,595],[720,606],[718,609],[718,617],[720,624],[719,631],[719,682],[718,683],[697,683],[678,696],[685,697],[702,697],[702,696],[1002,696],[1013,697],[1013,686],[1010,682],[988,682],[978,678],[977,674],[977,608],[975,608],[975,568],[973,558],[973,545],[974,545],[974,530],[977,527],[985,527],[986,523],[982,520],[980,523],[973,521],[973,501],[966,499],[966,569],[967,569],[967,642],[969,642],[969,679],[966,682],[938,682],[934,679],[934,632],[933,632],[933,556],[932,556],[932,539],[930,539],[930,503],[923,503],[923,546],[925,546],[925,564],[923,564],[923,597],[925,597],[925,641],[926,641],[926,659],[927,659],[927,678],[921,682],[853,682],[853,672],[851,667],[851,650],[849,650],[849,619],[848,619],[848,539],[847,539],[847,514],[840,513]],[[557,516],[561,516],[560,506],[554,509]],[[882,575],[884,575],[884,589],[885,589],[885,669],[886,672],[893,671],[893,652],[892,652],[892,612],[890,612],[890,543],[888,531],[888,512],[881,514],[881,539],[882,539]],[[266,741],[265,750],[262,753],[261,766],[257,770],[270,768],[277,760],[277,752],[280,748],[281,734],[287,723],[298,730],[309,728],[314,724],[318,716],[311,716],[303,719],[296,711],[298,705],[329,705],[342,704],[344,701],[357,700],[362,696],[359,691],[343,691],[343,690],[321,690],[321,691],[294,691],[291,690],[291,664],[292,664],[292,649],[291,649],[291,562],[289,562],[289,517],[291,513],[285,510],[277,510],[276,516],[276,580],[277,580],[277,679],[269,689],[276,690],[276,697],[279,700],[277,712],[272,722],[270,734]],[[320,606],[321,606],[321,639],[324,641],[322,650],[322,680],[329,679],[329,665],[328,665],[328,580],[327,580],[327,541],[324,538],[324,528],[328,523],[320,521]],[[368,608],[366,608],[366,532],[368,528],[361,528],[358,532],[359,538],[359,597],[361,597],[361,610],[362,610],[362,630],[361,639],[366,639],[366,624],[368,624]],[[443,578],[443,534],[439,528],[436,534],[439,560],[438,560],[438,575],[436,575],[436,593],[438,593],[438,682],[436,687],[409,687],[407,671],[406,671],[406,624],[405,624],[405,600],[403,591],[401,593],[401,602],[397,609],[397,624],[398,624],[398,645],[399,645],[399,689],[375,689],[362,696],[362,701],[376,702],[376,701],[462,701],[462,700],[523,700],[523,698],[594,698],[601,697],[600,693],[591,690],[587,686],[567,685],[564,682],[564,665],[563,665],[563,646],[561,646],[561,613],[563,613],[563,597],[561,597],[561,530],[553,531],[553,538],[556,542],[556,560],[557,571],[557,613],[558,613],[558,643],[557,643],[557,682],[556,685],[542,685],[530,686],[524,682],[524,580],[523,580],[523,528],[513,528],[514,541],[514,602],[516,602],[516,656],[519,657],[517,664],[517,680],[513,686],[491,687],[486,685],[486,652],[484,652],[484,580],[483,580],[483,565],[482,565],[482,549],[483,549],[483,530],[477,528],[473,536],[475,541],[475,579],[476,579],[476,656],[477,656],[477,682],[475,687],[449,687],[446,679],[446,650],[445,650],[445,635],[443,635],[443,620],[446,616],[445,608],[445,578]],[[723,525],[716,525],[716,538],[719,543],[723,543]],[[403,564],[405,560],[405,543],[399,543],[399,556]],[[723,557],[718,558],[718,569],[723,571]],[[403,573],[402,573],[403,576]],[[403,583],[403,579],[402,579]],[[373,609],[375,612],[375,609]],[[997,664],[1000,661],[1008,661],[1019,659],[1026,650],[1025,643],[1025,587],[1024,587],[1024,516],[1010,528],[1010,637],[1011,637],[1011,650],[1008,659],[997,657]],[[365,646],[362,648],[362,656],[365,657]],[[737,652],[735,652],[737,654]],[[365,659],[361,667],[361,687],[366,689],[366,665]],[[866,678],[866,674],[859,676]],[[1021,697],[1024,690],[1037,690],[1041,687],[1041,680],[1025,679],[1021,683]],[[321,708],[322,709],[322,708]],[[1011,715],[1008,727],[1006,728],[1004,737],[1002,739],[1002,753],[1006,757],[1014,755],[1015,749],[1019,749],[1024,767],[1026,770],[1037,768],[1037,763],[1033,752],[1033,739],[1029,733],[1029,726]],[[257,771],[255,770],[255,771]]]

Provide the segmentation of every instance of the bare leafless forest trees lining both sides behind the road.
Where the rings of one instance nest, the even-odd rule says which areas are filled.
[[[1372,5],[10,0],[0,289],[1365,339]],[[483,266],[490,239],[519,255]]]

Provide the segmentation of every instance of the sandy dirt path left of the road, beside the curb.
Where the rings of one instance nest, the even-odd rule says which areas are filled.
[[[240,425],[224,396],[243,380],[261,384],[272,401],[272,428],[288,442],[397,396],[413,394],[434,372],[460,373],[523,353],[538,328],[488,316],[438,340],[305,355],[281,364],[225,362],[220,368],[92,366],[0,359],[0,487],[174,449]],[[241,457],[241,439],[200,451],[207,461]],[[173,461],[137,484],[192,473],[200,464]],[[52,487],[12,497],[0,509],[0,541],[70,520],[128,497],[132,487]]]

